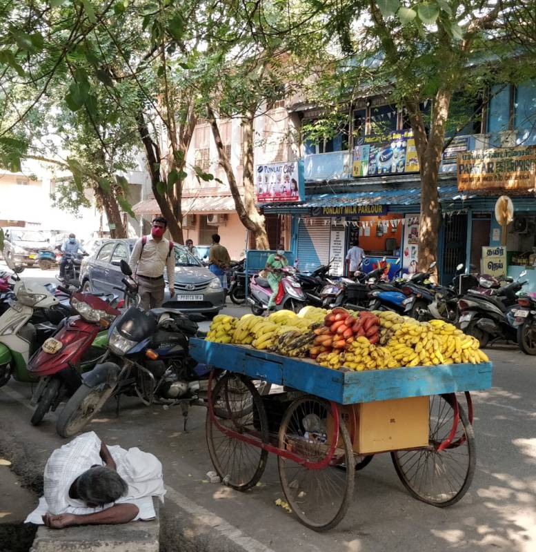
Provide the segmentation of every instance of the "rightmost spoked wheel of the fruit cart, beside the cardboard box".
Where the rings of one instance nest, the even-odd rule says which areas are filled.
[[[465,495],[475,473],[473,426],[455,401],[454,395],[430,396],[428,449],[391,453],[398,477],[410,494],[441,508],[455,504]],[[447,441],[450,444],[445,446]]]

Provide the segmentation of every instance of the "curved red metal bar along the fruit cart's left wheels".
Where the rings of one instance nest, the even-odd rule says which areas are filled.
[[[320,460],[319,462],[309,462],[308,460],[305,460],[305,458],[292,453],[290,451],[287,451],[286,449],[280,449],[279,446],[273,446],[272,444],[262,442],[256,437],[250,437],[249,435],[246,435],[245,433],[237,433],[237,431],[234,431],[230,428],[226,428],[222,426],[214,413],[214,408],[212,408],[212,378],[214,377],[214,370],[210,371],[210,376],[208,377],[208,390],[207,390],[207,402],[208,402],[208,415],[210,416],[210,421],[215,424],[218,431],[221,431],[221,433],[224,433],[228,437],[232,437],[233,439],[237,439],[239,441],[246,442],[252,446],[257,446],[259,449],[263,449],[264,451],[268,451],[269,453],[273,453],[277,456],[281,456],[286,458],[287,460],[291,460],[292,462],[296,462],[297,464],[301,464],[301,466],[304,466],[306,469],[309,470],[321,470],[326,468],[329,463],[331,462],[333,455],[335,454],[335,449],[337,449],[337,444],[339,442],[339,408],[337,408],[337,403],[330,402],[331,404],[331,414],[333,417],[333,438],[330,445],[330,449],[326,456]],[[335,438],[336,437],[336,438]]]

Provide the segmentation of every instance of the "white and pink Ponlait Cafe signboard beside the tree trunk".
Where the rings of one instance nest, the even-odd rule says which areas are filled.
[[[286,203],[304,199],[303,160],[257,165],[255,178],[257,203]]]

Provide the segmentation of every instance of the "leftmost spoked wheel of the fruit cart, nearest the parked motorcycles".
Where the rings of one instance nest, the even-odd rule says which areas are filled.
[[[237,386],[237,380],[240,385]],[[221,480],[238,491],[255,486],[266,467],[268,452],[255,444],[226,435],[217,427],[268,443],[268,420],[255,386],[245,378],[226,374],[210,393],[206,442],[210,460]]]

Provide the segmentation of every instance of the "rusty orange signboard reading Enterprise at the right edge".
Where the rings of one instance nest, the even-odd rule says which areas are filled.
[[[535,166],[535,146],[459,153],[458,190],[534,188]]]

